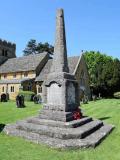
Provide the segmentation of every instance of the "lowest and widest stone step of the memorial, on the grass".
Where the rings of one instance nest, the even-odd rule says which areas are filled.
[[[51,138],[38,133],[27,132],[25,130],[16,129],[16,125],[7,125],[4,132],[9,135],[23,137],[29,141],[46,144],[53,148],[62,149],[78,149],[78,148],[89,148],[96,147],[112,130],[114,126],[103,125],[99,130],[95,131],[84,139],[68,139],[61,140],[58,138]]]

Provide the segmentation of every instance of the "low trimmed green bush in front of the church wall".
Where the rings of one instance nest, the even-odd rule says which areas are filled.
[[[20,91],[18,95],[23,95],[25,101],[33,101],[35,93],[31,91]]]

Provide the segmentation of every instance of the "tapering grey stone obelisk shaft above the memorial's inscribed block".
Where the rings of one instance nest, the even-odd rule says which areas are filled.
[[[69,72],[63,9],[58,9],[56,16],[53,71]]]

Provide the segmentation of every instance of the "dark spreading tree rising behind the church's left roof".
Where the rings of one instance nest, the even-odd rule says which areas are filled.
[[[48,42],[45,43],[37,43],[36,40],[31,39],[26,48],[23,50],[24,56],[30,54],[39,54],[42,52],[48,52],[49,54],[53,54],[54,47],[50,45]]]

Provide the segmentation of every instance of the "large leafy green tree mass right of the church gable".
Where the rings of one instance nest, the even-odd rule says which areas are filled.
[[[90,85],[95,94],[112,96],[120,91],[120,61],[100,52],[85,52],[88,65]]]

